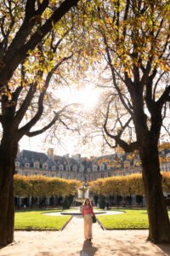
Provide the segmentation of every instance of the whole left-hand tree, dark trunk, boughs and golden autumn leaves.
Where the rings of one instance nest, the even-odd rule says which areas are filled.
[[[59,67],[72,56],[71,52],[67,55],[67,51],[63,55],[62,50],[63,45],[68,43],[66,39],[63,43],[63,38],[71,31],[71,24],[70,27],[65,26],[64,32],[59,29],[59,22],[60,26],[63,26],[62,22],[65,20],[62,21],[61,18],[78,1],[69,0],[60,5],[55,2],[8,1],[7,6],[5,2],[1,3],[1,246],[6,246],[14,239],[14,159],[20,138],[24,135],[33,137],[41,134],[56,121],[58,125],[62,124],[68,128],[65,121],[69,118],[68,108],[59,109],[58,104],[58,110],[54,112],[54,117],[49,119],[48,124],[45,123],[40,129],[31,131],[38,120],[50,113],[52,97],[48,93],[48,85],[56,78]],[[21,26],[18,27],[18,24]],[[44,108],[46,97],[50,99],[50,104]]]

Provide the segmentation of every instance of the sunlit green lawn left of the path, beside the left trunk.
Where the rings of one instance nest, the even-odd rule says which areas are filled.
[[[42,215],[47,212],[60,212],[51,210],[22,211],[14,214],[14,230],[61,230],[71,219],[68,216]]]

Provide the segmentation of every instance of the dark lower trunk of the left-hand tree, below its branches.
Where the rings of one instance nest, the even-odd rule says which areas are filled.
[[[0,246],[14,240],[14,156],[10,145],[0,148]]]

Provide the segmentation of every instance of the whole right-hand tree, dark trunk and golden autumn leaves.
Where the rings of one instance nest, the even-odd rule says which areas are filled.
[[[169,242],[170,223],[158,156],[161,128],[170,101],[169,2],[101,0],[95,3],[92,27],[94,34],[100,36],[95,48],[104,56],[106,75],[111,75],[112,80],[103,113],[105,141],[110,145],[114,141],[112,148],[119,145],[126,152],[139,151],[149,217],[148,240]],[[116,114],[112,114],[115,109]],[[131,134],[127,139],[128,129]]]

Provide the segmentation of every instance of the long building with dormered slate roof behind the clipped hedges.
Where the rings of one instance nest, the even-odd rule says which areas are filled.
[[[26,152],[29,154],[29,151]],[[39,156],[39,154],[36,153],[37,156]],[[133,161],[134,166],[130,161],[124,160],[122,167],[111,167],[109,165],[107,166],[106,163],[98,164],[97,160],[83,162],[84,158],[82,159],[80,154],[74,155],[73,158],[70,158],[69,155],[57,157],[54,155],[52,148],[48,149],[48,154],[43,154],[43,157],[46,157],[44,162],[42,162],[41,157],[39,161],[35,159],[33,162],[29,162],[29,160],[26,159],[26,154],[25,159],[22,159],[21,152],[17,155],[17,159],[15,160],[15,172],[25,176],[42,175],[46,177],[77,179],[82,182],[93,181],[98,178],[141,173],[141,166],[135,166],[135,160]],[[162,164],[161,171],[170,172],[170,163]]]

